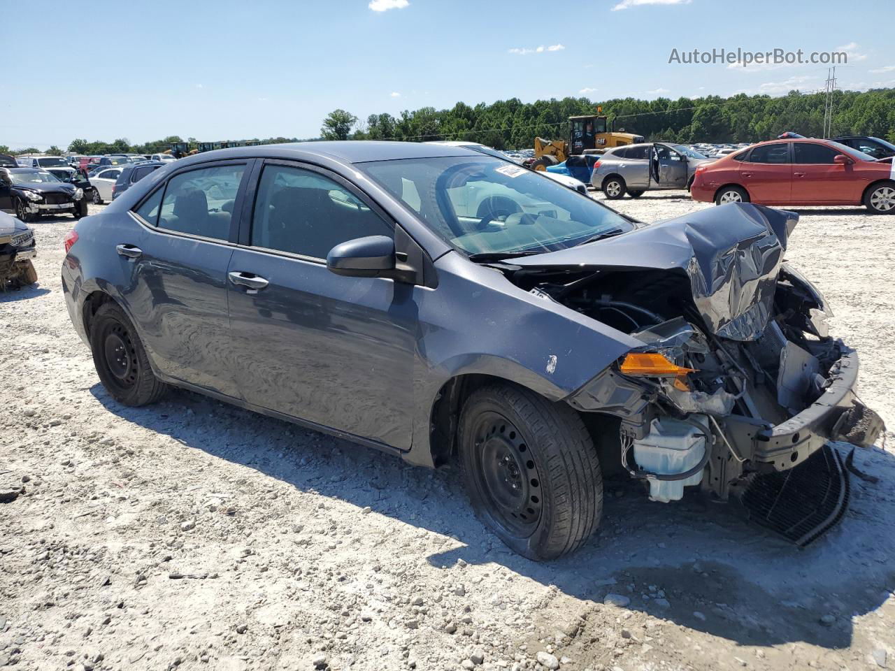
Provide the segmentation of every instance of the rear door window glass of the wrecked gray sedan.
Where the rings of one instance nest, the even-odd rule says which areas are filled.
[[[169,231],[226,240],[245,166],[214,166],[175,174],[158,225]]]

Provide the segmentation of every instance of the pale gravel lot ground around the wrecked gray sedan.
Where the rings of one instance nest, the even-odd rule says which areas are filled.
[[[895,426],[895,218],[801,214],[788,258]],[[60,291],[72,224],[34,224],[39,285],[0,295],[0,497],[24,488],[0,503],[0,667],[895,668],[891,450],[858,451],[880,481],[852,478],[844,521],[805,550],[727,505],[609,484],[600,533],[536,565],[483,531],[453,469],[184,392],[113,402]]]

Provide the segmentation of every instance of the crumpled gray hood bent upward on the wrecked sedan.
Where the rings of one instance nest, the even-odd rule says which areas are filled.
[[[788,236],[797,221],[795,212],[730,203],[511,263],[523,268],[680,270],[690,279],[696,309],[716,335],[754,340],[767,326]]]

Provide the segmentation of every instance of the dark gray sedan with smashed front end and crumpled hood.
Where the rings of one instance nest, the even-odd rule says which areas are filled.
[[[158,170],[76,225],[62,279],[117,401],[178,386],[456,460],[532,559],[586,541],[609,476],[804,544],[848,501],[829,442],[882,422],[783,262],[796,222],[731,204],[644,225],[466,149],[272,145]]]

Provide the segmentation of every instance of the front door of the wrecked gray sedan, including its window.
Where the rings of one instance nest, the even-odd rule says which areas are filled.
[[[409,448],[413,286],[326,267],[338,243],[394,235],[341,177],[268,162],[251,227],[228,268],[234,374],[243,398],[355,436]]]

